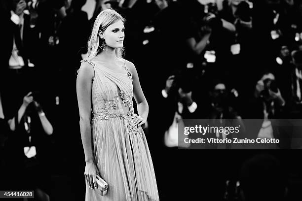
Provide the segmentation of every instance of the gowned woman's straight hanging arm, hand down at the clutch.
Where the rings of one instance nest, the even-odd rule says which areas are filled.
[[[98,168],[94,162],[92,141],[91,141],[91,89],[94,77],[93,67],[84,62],[78,70],[76,79],[76,95],[80,116],[80,132],[85,154],[85,178],[89,187],[94,189],[96,185],[96,174],[99,174]]]

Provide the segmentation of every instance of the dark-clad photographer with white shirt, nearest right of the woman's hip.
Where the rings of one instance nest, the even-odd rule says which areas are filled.
[[[156,147],[157,157],[154,158],[154,164],[160,164],[158,168],[158,185],[162,185],[162,199],[175,199],[180,197],[173,193],[174,185],[166,185],[175,183],[179,179],[179,163],[180,158],[185,158],[183,152],[179,152],[179,147],[188,147],[187,144],[179,144],[178,127],[184,126],[181,119],[199,119],[201,118],[201,105],[196,103],[196,97],[193,94],[194,82],[187,75],[187,71],[174,70],[170,73],[165,81],[164,89],[158,91],[156,108],[150,110],[149,118],[156,121],[150,122],[150,133],[156,133],[154,136],[154,144]],[[164,118],[164,121],[161,118]],[[182,140],[180,140],[181,142]],[[184,163],[185,165],[185,163]],[[183,195],[188,197],[188,195]]]

